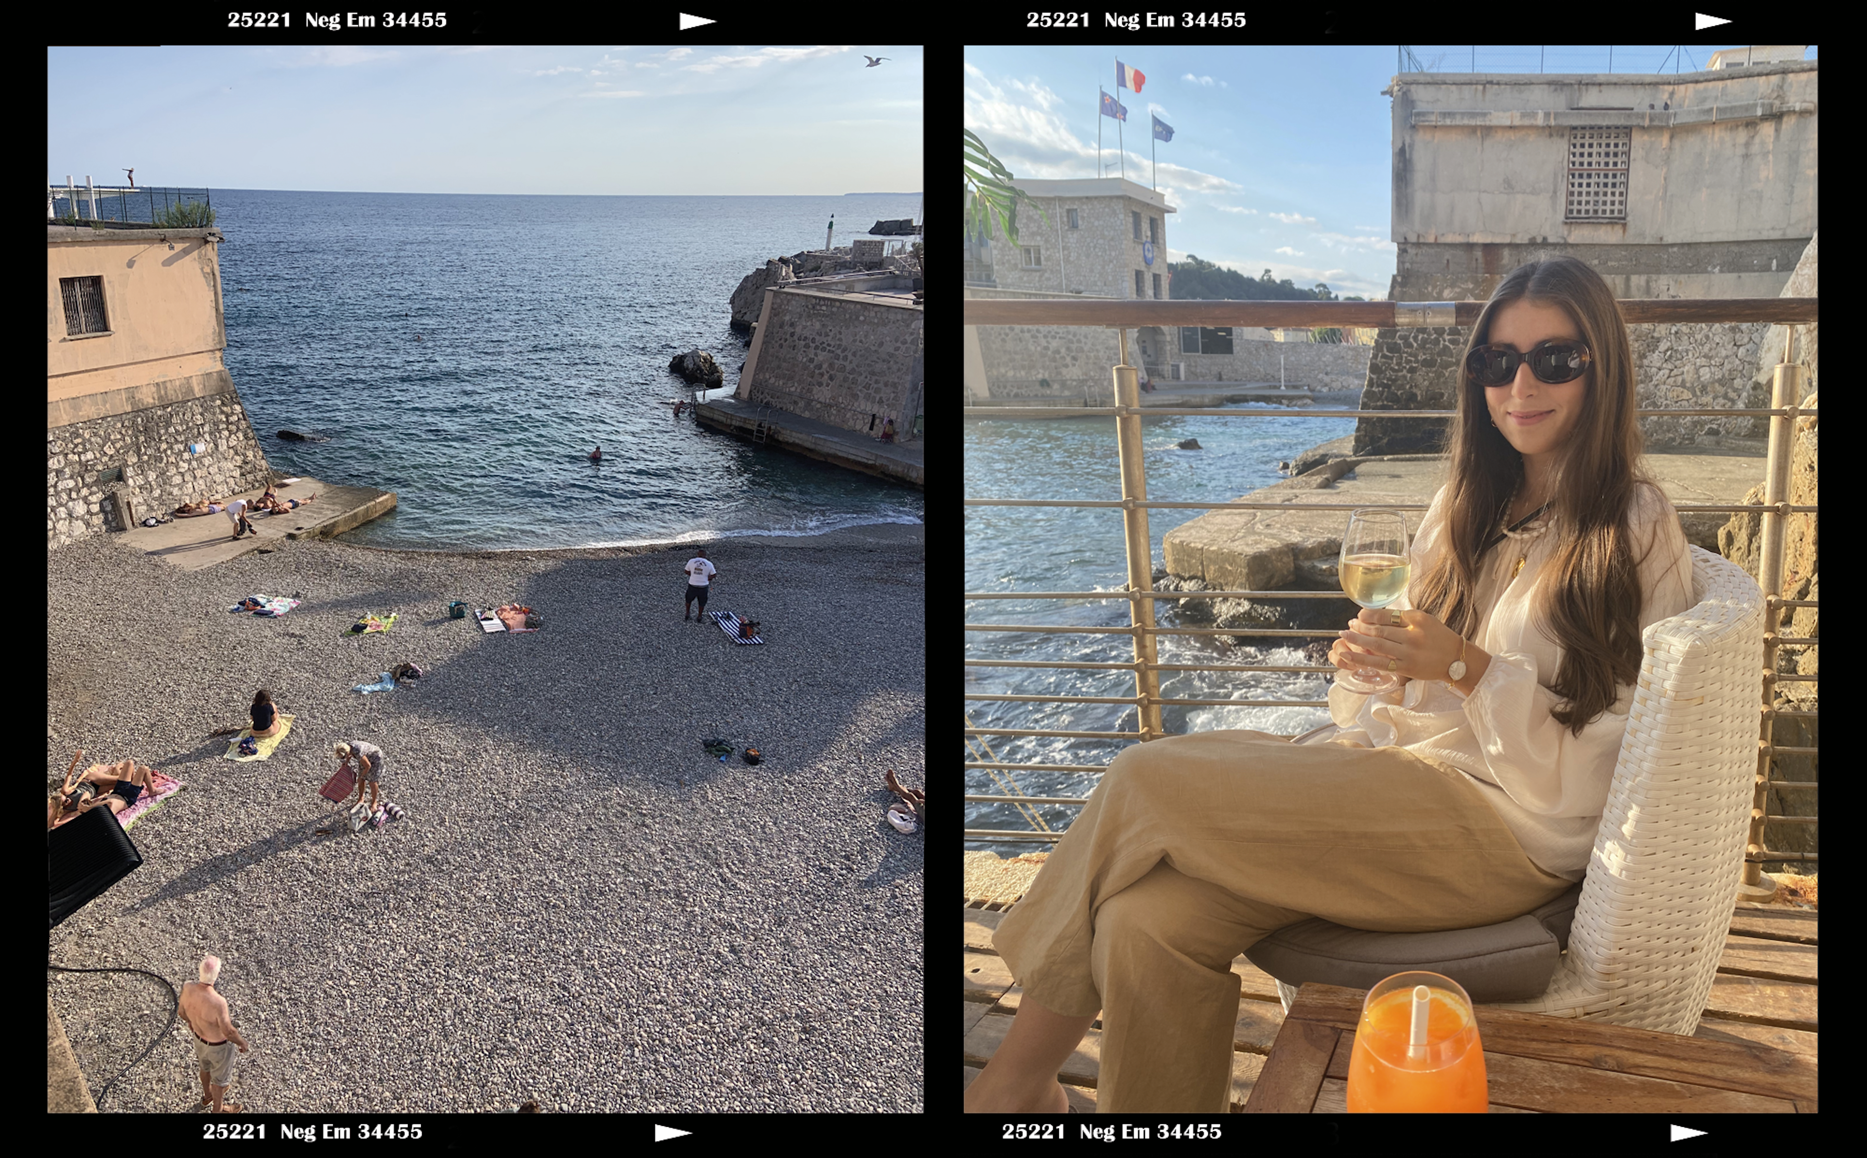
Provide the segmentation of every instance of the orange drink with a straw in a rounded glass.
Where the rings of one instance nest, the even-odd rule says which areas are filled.
[[[1421,1042],[1415,990],[1426,986]],[[1397,973],[1369,990],[1348,1057],[1350,1113],[1484,1113],[1484,1046],[1471,999],[1438,973]]]

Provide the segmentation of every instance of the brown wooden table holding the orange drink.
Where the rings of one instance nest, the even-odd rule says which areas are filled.
[[[1305,984],[1245,1113],[1344,1113],[1367,990]],[[1815,1057],[1581,1018],[1477,1009],[1492,1113],[1815,1113]]]

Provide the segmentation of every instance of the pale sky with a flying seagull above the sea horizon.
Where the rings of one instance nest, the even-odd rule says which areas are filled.
[[[887,56],[866,67],[863,56]],[[52,49],[47,172],[347,192],[919,192],[920,49]]]

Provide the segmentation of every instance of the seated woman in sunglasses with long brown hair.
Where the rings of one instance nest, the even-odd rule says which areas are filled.
[[[1376,932],[1509,921],[1581,880],[1641,631],[1692,601],[1678,514],[1641,473],[1634,364],[1574,258],[1499,282],[1460,359],[1447,482],[1413,579],[1329,650],[1337,732],[1122,751],[993,943],[1023,997],[969,1111],[1062,1111],[1102,1014],[1100,1111],[1223,1113],[1232,960],[1309,917]]]

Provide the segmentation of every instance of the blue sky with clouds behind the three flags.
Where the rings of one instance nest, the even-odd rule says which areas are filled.
[[[1682,71],[1703,69],[1731,45],[1688,45]],[[1667,47],[1615,45],[1615,73],[1652,73]],[[1471,71],[1471,49],[1413,49],[1434,71]],[[1550,73],[1606,73],[1609,49],[1551,47]],[[1141,69],[1139,93],[1116,92],[1115,62]],[[1805,54],[1815,60],[1815,49]],[[1677,60],[1677,58],[1675,58]],[[1477,47],[1484,73],[1535,73],[1538,49]],[[1301,288],[1387,297],[1395,273],[1393,103],[1380,95],[1397,71],[1393,45],[1327,47],[967,47],[965,127],[1019,177],[1094,177],[1120,159],[1116,123],[1098,116],[1098,86],[1128,106],[1128,179],[1158,187],[1178,209],[1167,219],[1169,260],[1199,254]],[[1154,142],[1150,114],[1172,125]],[[1109,168],[1107,176],[1120,176]]]

